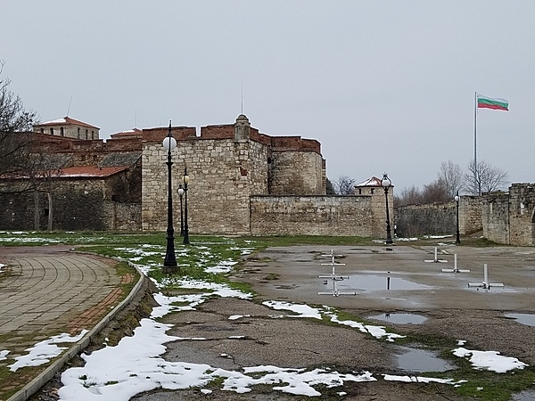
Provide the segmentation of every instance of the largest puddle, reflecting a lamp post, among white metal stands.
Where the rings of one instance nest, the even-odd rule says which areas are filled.
[[[377,274],[353,274],[349,279],[337,283],[343,291],[380,291],[380,290],[429,290],[430,286],[409,282],[399,277]]]

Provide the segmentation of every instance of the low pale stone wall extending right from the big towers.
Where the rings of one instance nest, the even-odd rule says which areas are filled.
[[[370,196],[252,196],[251,234],[373,236],[371,208]]]

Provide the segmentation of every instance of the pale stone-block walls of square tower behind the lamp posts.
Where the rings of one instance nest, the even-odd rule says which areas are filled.
[[[268,149],[252,141],[201,139],[178,141],[173,151],[173,215],[180,222],[177,196],[184,168],[188,226],[192,233],[250,233],[251,192],[268,191]],[[142,227],[167,227],[167,153],[161,143],[146,143],[143,152]],[[185,203],[185,200],[184,200]],[[176,229],[176,227],[175,227]]]

